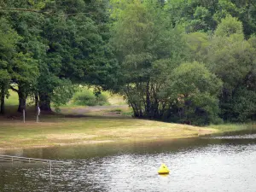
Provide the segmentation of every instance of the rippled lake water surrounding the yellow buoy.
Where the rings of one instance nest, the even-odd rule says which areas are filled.
[[[7,154],[70,164],[0,163],[0,191],[256,191],[256,135],[38,148]],[[161,163],[171,170],[158,175]]]

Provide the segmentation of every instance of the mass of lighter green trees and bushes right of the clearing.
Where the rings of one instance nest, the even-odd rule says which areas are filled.
[[[135,117],[193,125],[255,118],[253,1],[112,3],[119,91]]]

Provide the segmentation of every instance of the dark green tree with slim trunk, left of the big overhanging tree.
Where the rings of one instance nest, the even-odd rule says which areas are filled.
[[[13,8],[40,9],[44,3],[20,0],[15,2],[4,1],[4,5]],[[9,20],[11,26],[20,36],[19,41],[16,43],[15,59],[9,64],[9,67],[12,83],[10,88],[18,93],[18,111],[22,112],[26,108],[27,96],[34,93],[39,75],[38,66],[46,50],[46,45],[39,35],[41,26],[44,25],[44,15],[5,11],[3,16]]]

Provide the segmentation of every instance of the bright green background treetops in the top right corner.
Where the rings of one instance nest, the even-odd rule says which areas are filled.
[[[246,38],[256,32],[253,0],[172,0],[167,10],[173,25],[182,25],[186,32],[214,32],[226,16],[241,20]]]

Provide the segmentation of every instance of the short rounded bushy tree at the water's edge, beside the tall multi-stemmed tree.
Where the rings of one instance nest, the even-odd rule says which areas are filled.
[[[221,80],[202,63],[187,62],[175,68],[169,89],[175,99],[172,108],[176,108],[179,121],[191,125],[216,122],[221,88]]]

